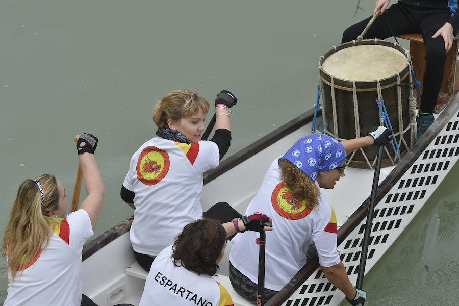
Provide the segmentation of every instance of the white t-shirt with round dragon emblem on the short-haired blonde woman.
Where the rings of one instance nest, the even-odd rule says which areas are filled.
[[[135,152],[123,186],[136,194],[130,231],[136,252],[156,256],[185,225],[202,217],[203,172],[218,163],[212,141],[186,144],[155,137]]]

